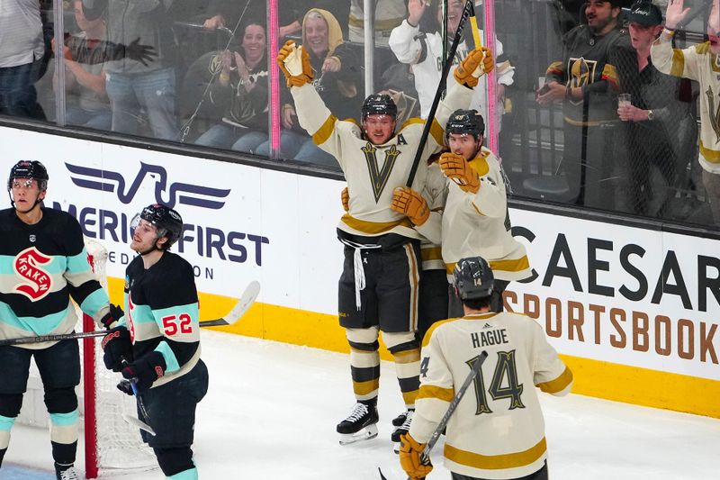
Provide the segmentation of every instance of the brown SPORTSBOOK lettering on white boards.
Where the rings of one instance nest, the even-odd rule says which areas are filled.
[[[521,312],[541,322],[545,320],[549,337],[718,363],[715,323],[671,319],[662,314],[653,316],[553,297],[541,299],[535,294],[519,297],[511,290],[505,291],[504,299],[509,312]]]

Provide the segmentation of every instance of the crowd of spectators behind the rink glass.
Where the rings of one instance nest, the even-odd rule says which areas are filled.
[[[495,2],[500,13],[491,47],[497,68],[482,79],[472,106],[486,124],[491,111],[496,115],[499,153],[514,195],[644,217],[720,222],[707,207],[716,189],[705,186],[715,184],[699,179],[698,84],[653,66],[650,49],[661,34],[667,2],[654,3]],[[464,1],[374,4],[374,92],[392,96],[399,120],[424,118]],[[275,31],[267,26],[267,2],[74,0],[65,5],[66,32],[57,37],[64,44],[58,46],[50,41],[47,3],[4,0],[0,114],[55,122],[62,85],[69,126],[270,158],[268,118],[276,107],[282,122],[279,159],[338,168],[336,159],[299,127],[286,86],[281,85],[281,104],[270,105],[268,68],[275,68],[276,52],[268,51]],[[482,2],[476,5],[482,17]],[[310,52],[314,85],[340,119],[356,117],[365,98],[363,6],[363,0],[278,0],[278,44],[292,39]],[[535,22],[537,12],[545,26]],[[707,25],[709,8],[699,13]],[[533,23],[524,26],[527,14]],[[482,18],[480,25],[480,38],[488,41]],[[708,35],[716,33],[710,30]],[[523,50],[535,48],[527,45],[528,35],[554,46],[536,55],[534,64],[520,60]],[[468,23],[454,64],[473,48]],[[63,82],[54,56],[63,59]],[[492,99],[487,81],[494,82]],[[618,104],[621,94],[630,102]],[[547,132],[538,134],[530,147],[527,131],[540,131],[542,122],[552,132],[548,138]],[[542,165],[546,144],[558,157],[551,170]],[[531,148],[536,153],[527,153]],[[548,179],[552,192],[544,190]]]

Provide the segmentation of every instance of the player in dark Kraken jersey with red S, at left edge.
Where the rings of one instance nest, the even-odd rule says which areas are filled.
[[[87,261],[80,224],[68,213],[42,206],[48,180],[39,161],[20,161],[10,170],[13,207],[0,211],[0,339],[71,333],[77,316],[70,297],[98,325],[114,322],[107,294]],[[23,404],[31,357],[45,391],[57,478],[76,479],[76,340],[0,347],[0,464]]]

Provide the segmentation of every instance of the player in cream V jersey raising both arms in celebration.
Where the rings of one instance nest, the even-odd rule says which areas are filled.
[[[418,321],[419,232],[427,212],[410,218],[392,211],[392,192],[405,185],[424,121],[410,119],[396,129],[397,106],[389,95],[365,99],[361,124],[339,121],[311,84],[314,72],[307,53],[285,43],[277,56],[298,111],[298,120],[313,141],[336,158],[345,173],[349,211],[338,223],[345,245],[345,263],[338,285],[338,315],[350,345],[351,376],[356,405],[338,424],[340,443],[377,436],[377,394],[380,384],[379,331],[395,359],[403,403],[415,407],[419,387]],[[423,158],[443,145],[443,128],[456,108],[470,104],[478,78],[492,68],[488,50],[473,50],[455,69],[445,100],[432,120]],[[413,186],[425,181],[420,162]]]

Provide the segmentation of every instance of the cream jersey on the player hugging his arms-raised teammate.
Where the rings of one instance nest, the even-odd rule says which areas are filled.
[[[457,261],[474,256],[485,258],[499,280],[531,276],[525,247],[509,231],[508,198],[498,158],[483,147],[470,166],[480,176],[476,194],[465,192],[444,175],[428,176],[426,191],[446,188],[445,210],[442,215],[430,213],[418,231],[442,246],[450,281]]]

